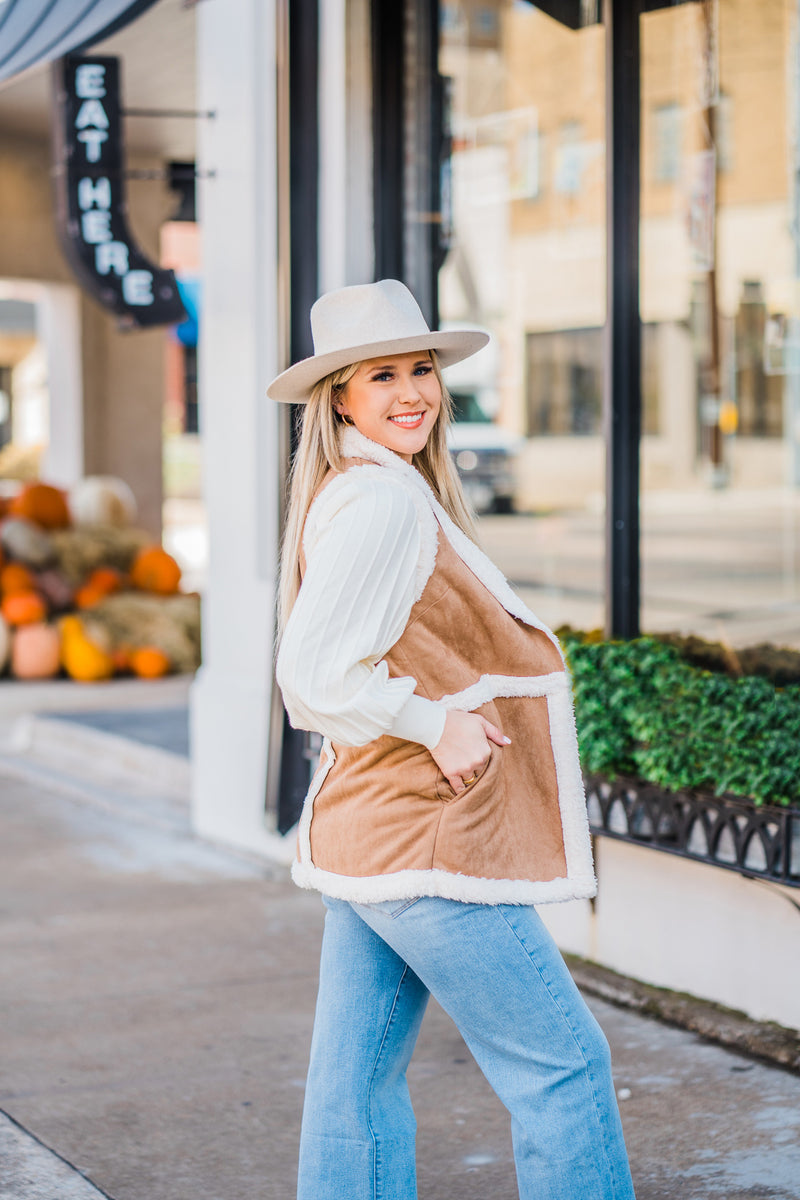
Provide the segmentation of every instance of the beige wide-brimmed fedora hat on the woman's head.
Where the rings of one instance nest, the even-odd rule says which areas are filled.
[[[331,371],[381,354],[435,350],[443,367],[486,346],[481,329],[431,330],[399,280],[359,283],[327,292],[311,310],[312,358],[295,362],[266,389],[272,400],[305,404],[314,384]]]

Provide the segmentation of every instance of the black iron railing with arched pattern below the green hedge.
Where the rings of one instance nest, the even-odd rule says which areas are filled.
[[[800,811],[587,775],[594,834],[800,888]]]

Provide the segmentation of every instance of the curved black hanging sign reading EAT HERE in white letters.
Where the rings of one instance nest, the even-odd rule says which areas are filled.
[[[55,216],[72,270],[124,326],[185,320],[174,272],[128,229],[119,59],[68,55],[54,77]]]

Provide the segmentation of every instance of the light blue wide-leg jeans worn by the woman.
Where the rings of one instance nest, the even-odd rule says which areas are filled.
[[[521,1200],[632,1200],[608,1043],[534,908],[325,905],[297,1200],[415,1200],[428,995],[511,1114]]]

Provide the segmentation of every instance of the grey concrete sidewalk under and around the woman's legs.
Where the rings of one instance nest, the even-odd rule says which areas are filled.
[[[291,1200],[319,898],[193,839],[175,779],[49,752],[0,754],[0,1200]],[[800,1198],[800,1078],[589,1002],[638,1200]],[[513,1200],[435,1006],[410,1082],[420,1200]]]

